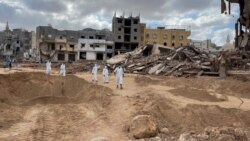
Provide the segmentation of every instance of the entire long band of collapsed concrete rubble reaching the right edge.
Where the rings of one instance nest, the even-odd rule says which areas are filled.
[[[128,73],[151,75],[225,77],[228,69],[250,70],[247,52],[222,52],[216,55],[188,46],[161,47],[159,54],[153,54],[150,53],[149,47],[147,45],[132,52],[116,55],[107,60],[107,64],[112,68],[122,65]]]

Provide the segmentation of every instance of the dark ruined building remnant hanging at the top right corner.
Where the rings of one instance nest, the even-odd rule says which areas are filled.
[[[226,6],[226,2],[228,6]],[[250,50],[250,1],[221,0],[221,13],[231,14],[231,3],[240,6],[240,17],[235,24],[235,47],[238,50]],[[228,9],[227,9],[228,8]],[[227,11],[228,10],[228,11]]]

